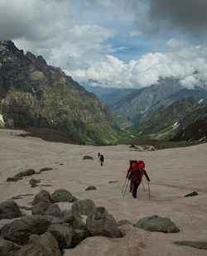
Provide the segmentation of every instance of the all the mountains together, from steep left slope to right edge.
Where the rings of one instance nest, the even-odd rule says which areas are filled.
[[[0,41],[0,128],[46,128],[44,133],[49,128],[91,145],[207,138],[207,129],[200,128],[206,125],[200,120],[207,118],[205,86],[185,89],[173,78],[143,89],[103,89],[91,83],[81,86],[42,56],[24,55],[12,41]]]

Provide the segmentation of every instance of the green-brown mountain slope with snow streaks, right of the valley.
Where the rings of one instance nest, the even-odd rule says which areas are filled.
[[[135,138],[173,138],[190,123],[207,118],[207,104],[199,104],[192,97],[154,111],[128,129]],[[193,133],[193,132],[192,132]]]

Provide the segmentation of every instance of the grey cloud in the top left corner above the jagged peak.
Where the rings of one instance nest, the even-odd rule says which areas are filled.
[[[67,1],[0,0],[0,40],[50,40],[70,24]]]

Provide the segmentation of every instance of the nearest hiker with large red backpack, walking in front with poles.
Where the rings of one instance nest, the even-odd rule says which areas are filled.
[[[150,181],[149,176],[147,176],[147,171],[144,170],[145,163],[143,161],[138,161],[137,163],[132,164],[133,170],[131,174],[128,176],[128,179],[131,179],[133,191],[132,196],[133,198],[137,198],[137,188],[142,181],[143,174],[146,176],[147,181]]]

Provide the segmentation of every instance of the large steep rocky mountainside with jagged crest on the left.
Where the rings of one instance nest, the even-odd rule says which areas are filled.
[[[52,128],[79,143],[112,143],[132,125],[42,56],[0,41],[0,103],[8,128]]]

